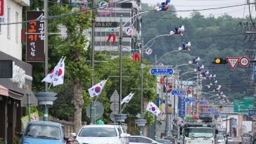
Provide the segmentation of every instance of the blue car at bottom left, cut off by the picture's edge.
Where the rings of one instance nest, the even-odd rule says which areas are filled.
[[[64,136],[63,126],[57,122],[30,122],[21,137],[20,144],[64,144],[68,137]]]

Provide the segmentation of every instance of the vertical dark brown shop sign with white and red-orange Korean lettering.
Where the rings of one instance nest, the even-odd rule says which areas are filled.
[[[44,11],[27,11],[27,62],[44,62]],[[32,21],[34,20],[34,21]]]

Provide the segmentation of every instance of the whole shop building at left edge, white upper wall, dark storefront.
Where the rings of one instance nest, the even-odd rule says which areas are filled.
[[[14,143],[21,131],[21,101],[32,86],[32,65],[22,61],[21,44],[22,10],[30,1],[0,3],[0,143]]]

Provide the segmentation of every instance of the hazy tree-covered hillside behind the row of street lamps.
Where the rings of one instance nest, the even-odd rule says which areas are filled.
[[[147,9],[153,7],[146,6]],[[187,63],[195,56],[200,56],[200,64],[205,65],[204,70],[209,70],[210,73],[217,75],[218,84],[222,85],[222,91],[226,96],[240,97],[243,96],[243,91],[252,95],[253,91],[248,90],[251,81],[250,67],[244,68],[239,65],[236,70],[231,71],[229,64],[213,65],[214,58],[226,57],[241,57],[245,54],[243,27],[238,25],[239,22],[250,21],[248,18],[232,18],[230,15],[222,15],[220,17],[204,17],[199,12],[191,13],[191,18],[177,18],[175,13],[146,13],[142,16],[142,37],[144,43],[153,37],[161,34],[169,34],[174,27],[184,25],[184,37],[161,37],[155,39],[155,43],[151,48],[152,55],[157,55],[160,58],[168,51],[177,50],[182,42],[191,41],[191,51],[182,51],[177,53],[169,53],[163,58],[164,65],[180,65]],[[246,42],[246,41],[245,41]],[[150,46],[151,44],[148,44]],[[152,55],[147,55],[146,58],[151,63],[154,63]],[[250,58],[253,59],[253,58]],[[179,67],[181,74],[191,71],[196,68],[196,65],[191,67]],[[186,74],[182,79],[188,79],[191,74]],[[209,84],[211,81],[203,80],[203,85]],[[251,87],[251,86],[250,86]],[[203,91],[212,91],[212,89],[203,88]]]

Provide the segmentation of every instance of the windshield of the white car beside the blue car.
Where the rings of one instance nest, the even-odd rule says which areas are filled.
[[[104,127],[90,127],[84,128],[80,131],[81,137],[115,137],[117,132],[115,128],[104,128]]]

